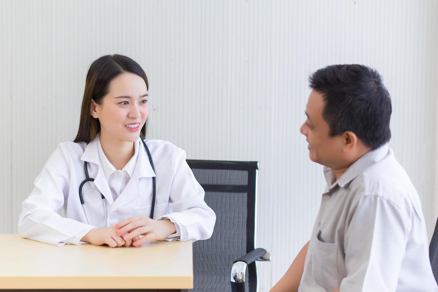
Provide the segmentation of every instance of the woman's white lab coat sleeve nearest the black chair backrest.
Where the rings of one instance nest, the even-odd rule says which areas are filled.
[[[186,162],[186,153],[178,148],[174,158],[174,176],[170,188],[169,206],[172,213],[157,220],[170,219],[181,241],[208,239],[212,236],[216,215],[204,201],[204,190]],[[178,230],[179,229],[179,230]],[[172,235],[174,236],[174,235]],[[170,239],[170,238],[169,238]]]

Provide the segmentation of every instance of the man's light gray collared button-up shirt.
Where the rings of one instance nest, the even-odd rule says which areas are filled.
[[[368,152],[337,181],[324,175],[298,291],[438,291],[420,199],[392,150]]]

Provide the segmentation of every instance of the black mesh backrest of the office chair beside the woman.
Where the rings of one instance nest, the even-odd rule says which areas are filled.
[[[183,291],[230,291],[233,261],[254,250],[258,162],[187,163],[215,211],[216,224],[210,239],[193,244],[194,289]],[[246,283],[246,291],[256,291],[255,263],[248,265]]]

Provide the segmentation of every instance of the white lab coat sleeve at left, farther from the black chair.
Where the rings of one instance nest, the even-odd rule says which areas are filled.
[[[83,243],[80,239],[95,226],[58,214],[70,186],[70,165],[60,145],[50,155],[34,185],[32,193],[21,204],[20,236],[58,246]]]

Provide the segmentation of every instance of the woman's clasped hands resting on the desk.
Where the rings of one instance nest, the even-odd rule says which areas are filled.
[[[156,221],[141,215],[127,218],[110,227],[92,229],[81,240],[94,245],[107,244],[110,247],[141,247],[142,243],[149,240],[166,239],[176,230],[169,219]]]

